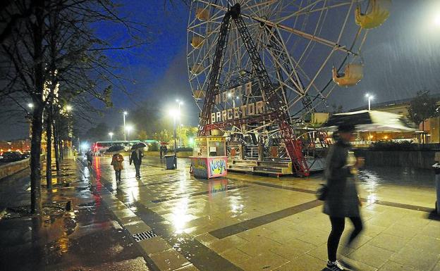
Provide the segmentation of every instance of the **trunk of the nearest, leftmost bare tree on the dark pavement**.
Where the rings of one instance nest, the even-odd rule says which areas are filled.
[[[32,113],[32,139],[30,143],[30,209],[42,210],[41,198],[41,139],[43,132],[43,108],[37,103]]]

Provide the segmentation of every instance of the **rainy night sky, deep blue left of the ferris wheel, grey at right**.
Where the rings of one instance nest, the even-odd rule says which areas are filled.
[[[179,1],[166,7],[163,1],[123,3],[124,15],[150,26],[152,40],[142,48],[111,55],[123,67],[122,73],[129,79],[126,89],[131,94],[115,93],[114,108],[95,121],[113,127],[118,119],[122,122],[121,111],[130,111],[145,101],[157,101],[165,114],[176,105],[176,99],[181,99],[185,102],[182,122],[197,125],[198,111],[185,60],[188,7]],[[111,35],[117,30],[104,27],[99,31]],[[440,1],[393,1],[389,20],[369,32],[362,56],[364,79],[355,87],[336,88],[329,105],[342,104],[345,110],[364,106],[367,92],[374,94],[377,102],[409,98],[421,89],[440,93]],[[26,137],[25,125],[17,128],[16,120],[5,125],[0,140]]]

